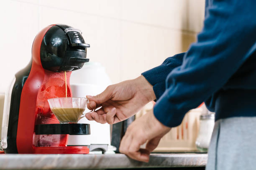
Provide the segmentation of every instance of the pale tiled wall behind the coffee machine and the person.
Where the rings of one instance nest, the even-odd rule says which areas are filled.
[[[113,83],[135,78],[186,51],[202,28],[204,0],[3,0],[0,2],[0,92],[31,59],[39,30],[79,28]]]

